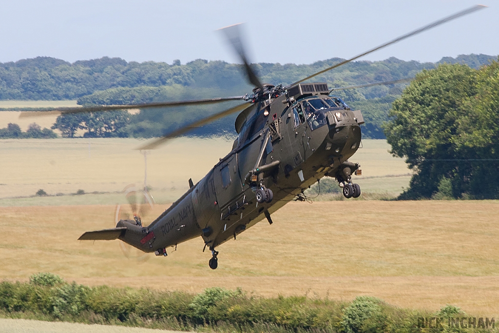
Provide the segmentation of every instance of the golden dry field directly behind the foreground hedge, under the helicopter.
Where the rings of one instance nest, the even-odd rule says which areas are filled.
[[[51,272],[86,285],[371,295],[401,307],[453,304],[494,317],[499,230],[491,212],[498,209],[498,201],[290,203],[272,216],[274,224],[261,222],[222,245],[212,271],[201,239],[146,261],[125,258],[119,241],[76,241],[86,230],[112,226],[114,206],[5,207],[0,278]]]

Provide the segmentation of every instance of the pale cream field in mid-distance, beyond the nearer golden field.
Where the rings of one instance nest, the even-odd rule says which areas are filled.
[[[144,183],[144,156],[135,148],[139,139],[7,139],[0,140],[0,206],[114,204],[130,184]],[[232,148],[227,138],[178,138],[147,155],[147,183],[159,202],[173,202],[196,183]],[[396,196],[407,186],[409,170],[402,159],[388,153],[384,140],[364,140],[352,161],[360,162],[363,176],[356,177],[364,192]],[[393,176],[397,177],[393,177]],[[49,195],[35,197],[43,189]]]

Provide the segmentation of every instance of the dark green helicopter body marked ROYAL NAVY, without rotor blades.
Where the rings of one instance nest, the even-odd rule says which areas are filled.
[[[342,167],[361,141],[360,111],[328,96],[327,85],[297,98],[289,90],[245,110],[232,151],[149,226],[120,221],[127,230],[119,239],[166,255],[166,248],[202,236],[213,251],[262,219],[272,223],[273,212],[325,175],[345,178]],[[271,190],[270,202],[257,202],[260,187]]]

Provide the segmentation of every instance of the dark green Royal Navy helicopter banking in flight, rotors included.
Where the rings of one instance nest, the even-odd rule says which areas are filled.
[[[334,177],[346,198],[358,197],[360,186],[352,182],[352,174],[359,173],[359,164],[348,159],[361,142],[362,113],[351,110],[341,98],[331,95],[327,83],[304,81],[483,7],[476,5],[425,25],[286,86],[260,82],[243,47],[239,25],[233,25],[222,31],[240,56],[247,77],[255,87],[251,94],[44,110],[67,113],[244,101],[140,147],[141,150],[153,149],[193,128],[240,112],[235,123],[238,138],[233,149],[197,184],[189,179],[189,190],[164,213],[147,226],[142,224],[140,216],[135,215],[133,220],[118,221],[115,228],[85,232],[79,240],[119,239],[143,252],[167,256],[167,248],[176,248],[182,242],[201,236],[203,251],[208,247],[212,254],[209,267],[216,269],[218,246],[231,238],[236,239],[238,234],[263,219],[272,224],[273,212],[292,200],[305,200],[303,191],[322,177]],[[374,84],[383,83],[396,81]]]

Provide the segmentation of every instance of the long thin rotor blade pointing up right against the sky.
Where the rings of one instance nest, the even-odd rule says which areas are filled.
[[[296,81],[296,82],[294,82],[294,83],[292,83],[292,84],[290,84],[290,85],[287,85],[285,88],[289,88],[289,87],[291,87],[291,86],[293,86],[293,85],[295,85],[295,84],[301,83],[301,82],[306,81],[306,80],[308,80],[308,79],[311,79],[312,77],[315,77],[315,76],[317,76],[317,75],[319,75],[319,74],[322,74],[322,73],[324,73],[324,72],[327,72],[328,70],[331,70],[331,69],[334,69],[334,68],[336,68],[336,67],[342,66],[342,65],[344,65],[344,64],[346,64],[346,63],[348,63],[348,62],[350,62],[350,61],[356,60],[356,59],[358,59],[358,58],[360,58],[360,57],[362,57],[362,56],[364,56],[364,55],[367,55],[367,54],[369,54],[369,53],[372,53],[372,52],[374,52],[374,51],[377,51],[377,50],[379,50],[379,49],[382,49],[382,48],[384,48],[384,47],[386,47],[386,46],[388,46],[388,45],[395,44],[396,42],[399,42],[399,41],[401,41],[401,40],[403,40],[403,39],[409,38],[409,37],[414,36],[414,35],[416,35],[416,34],[418,34],[418,33],[421,33],[421,32],[423,32],[423,31],[426,31],[426,30],[429,30],[429,29],[431,29],[431,28],[434,28],[434,27],[436,27],[436,26],[438,26],[438,25],[440,25],[440,24],[443,24],[443,23],[449,22],[449,21],[451,21],[451,20],[453,20],[453,19],[455,19],[455,18],[458,18],[458,17],[464,16],[464,15],[470,14],[470,13],[472,13],[472,12],[474,12],[474,11],[477,11],[477,10],[480,10],[480,9],[483,9],[483,8],[486,8],[486,7],[487,7],[487,6],[484,6],[484,5],[482,5],[482,4],[477,4],[477,5],[473,6],[473,7],[470,7],[470,8],[468,8],[468,9],[465,9],[465,10],[462,10],[462,11],[460,11],[460,12],[457,12],[457,13],[455,13],[455,14],[453,14],[453,15],[450,15],[450,16],[447,16],[447,17],[445,17],[445,18],[442,18],[442,19],[440,19],[440,20],[438,20],[438,21],[435,21],[435,22],[433,22],[433,23],[430,23],[430,24],[428,24],[428,25],[425,25],[425,26],[423,26],[423,27],[420,27],[420,28],[418,28],[418,29],[416,29],[416,30],[413,30],[413,31],[411,31],[411,32],[408,32],[408,33],[406,33],[406,34],[404,34],[404,35],[402,35],[402,36],[400,36],[400,37],[397,37],[397,38],[395,38],[395,39],[392,39],[392,40],[390,40],[389,42],[386,42],[386,43],[384,43],[384,44],[381,44],[381,45],[379,45],[379,46],[376,46],[376,47],[374,47],[374,48],[371,48],[370,50],[365,51],[364,53],[361,53],[361,54],[359,54],[359,55],[356,55],[356,56],[354,56],[353,58],[350,58],[350,59],[348,59],[348,60],[341,61],[340,63],[337,63],[337,64],[335,64],[335,65],[332,65],[331,67],[328,67],[328,68],[323,69],[323,70],[321,70],[321,71],[319,71],[319,72],[317,72],[317,73],[314,73],[314,74],[312,74],[312,75],[310,75],[310,76],[307,76],[307,77],[305,77],[304,79],[301,79],[301,80]]]

